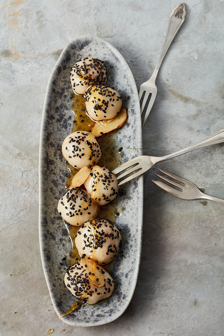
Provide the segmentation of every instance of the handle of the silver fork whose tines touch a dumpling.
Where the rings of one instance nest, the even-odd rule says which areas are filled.
[[[168,154],[168,155],[165,155],[165,156],[161,156],[161,157],[153,157],[153,163],[169,160],[169,159],[172,159],[172,158],[176,158],[179,155],[189,153],[191,151],[194,151],[195,149],[199,149],[199,148],[202,148],[202,147],[210,146],[210,145],[213,145],[213,144],[216,144],[216,143],[221,143],[221,142],[224,142],[224,129],[221,129],[220,131],[208,136],[207,138],[205,138],[205,139],[203,139],[199,142],[196,142],[196,143],[194,143],[193,145],[191,145],[187,148],[181,149],[178,152]]]

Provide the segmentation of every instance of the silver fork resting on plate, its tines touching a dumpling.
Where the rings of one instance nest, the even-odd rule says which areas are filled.
[[[168,155],[160,156],[160,157],[146,156],[146,155],[138,156],[134,159],[131,159],[123,163],[119,167],[115,168],[113,170],[113,173],[116,175],[116,178],[118,180],[118,185],[122,185],[144,174],[147,170],[152,168],[152,166],[154,166],[154,164],[157,162],[169,160],[179,155],[194,151],[195,149],[210,146],[210,145],[213,145],[215,143],[220,143],[220,142],[224,142],[224,129],[221,129],[220,131],[208,136],[207,138],[197,143],[194,143],[187,148],[181,149],[180,151],[175,152],[173,154],[168,154]]]

